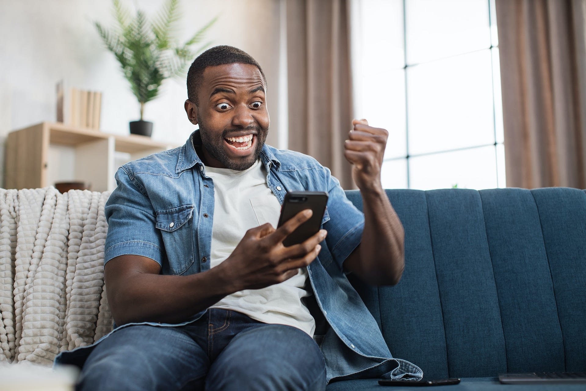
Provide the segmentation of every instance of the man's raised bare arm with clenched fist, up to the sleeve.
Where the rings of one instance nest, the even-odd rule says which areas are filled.
[[[363,201],[362,241],[344,267],[373,285],[397,284],[405,268],[404,230],[380,181],[389,132],[353,120],[345,157],[352,163],[352,178]]]

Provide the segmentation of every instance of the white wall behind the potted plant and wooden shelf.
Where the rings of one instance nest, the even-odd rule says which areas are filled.
[[[122,0],[127,8],[152,15],[165,0]],[[278,145],[279,0],[182,0],[180,41],[214,16],[206,34],[212,45],[232,45],[253,56],[268,81],[271,132]],[[11,130],[56,121],[55,84],[102,91],[101,130],[128,134],[138,120],[139,105],[113,54],[105,49],[93,21],[114,23],[110,1],[0,0],[0,185],[4,183],[4,142]],[[144,119],[154,122],[153,140],[183,144],[195,127],[183,102],[185,78],[166,80],[159,97],[145,106]]]

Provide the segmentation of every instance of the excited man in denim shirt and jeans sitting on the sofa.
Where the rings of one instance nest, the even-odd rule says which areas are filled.
[[[396,284],[403,273],[403,227],[380,182],[387,131],[355,120],[346,141],[363,215],[315,159],[264,144],[266,91],[247,53],[207,50],[185,101],[199,131],[118,170],[104,268],[117,328],[57,358],[83,365],[80,389],[323,390],[421,376],[391,358],[345,277]],[[328,192],[328,206],[322,230],[284,247],[311,216],[275,229],[294,190]]]

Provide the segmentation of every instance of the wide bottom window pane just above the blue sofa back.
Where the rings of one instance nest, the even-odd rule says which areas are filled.
[[[411,158],[411,189],[496,188],[495,146]]]

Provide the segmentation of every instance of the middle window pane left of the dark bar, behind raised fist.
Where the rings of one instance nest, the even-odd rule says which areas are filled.
[[[364,73],[360,90],[362,101],[356,117],[366,118],[369,125],[389,131],[384,158],[406,157],[405,70],[387,70],[384,77],[379,73]]]

